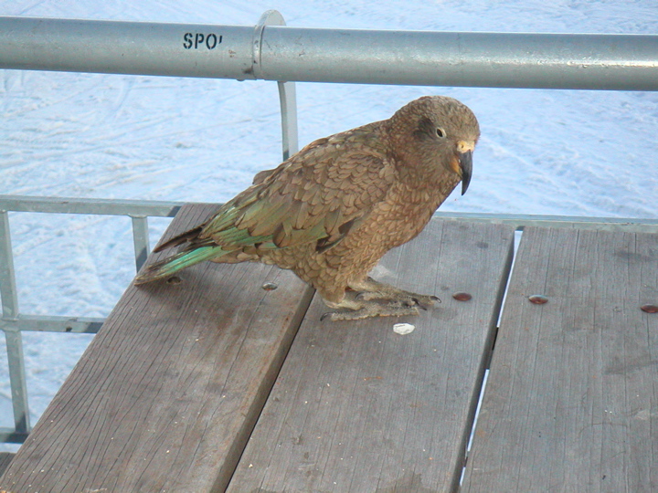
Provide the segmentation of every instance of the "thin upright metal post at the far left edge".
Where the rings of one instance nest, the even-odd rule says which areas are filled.
[[[18,318],[16,274],[9,232],[9,215],[6,211],[0,211],[0,296],[2,296],[3,319],[16,320]],[[16,432],[27,433],[30,424],[23,338],[18,330],[6,328],[4,330]]]

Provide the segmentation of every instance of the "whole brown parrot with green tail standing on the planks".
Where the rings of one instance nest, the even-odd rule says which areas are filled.
[[[417,236],[462,181],[480,136],[472,111],[442,96],[413,100],[388,120],[310,143],[206,223],[154,251],[185,246],[135,284],[203,260],[289,268],[339,311],[332,320],[418,314],[438,298],[368,277],[387,251]]]

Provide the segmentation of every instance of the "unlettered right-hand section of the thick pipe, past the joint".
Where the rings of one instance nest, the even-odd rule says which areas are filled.
[[[272,27],[265,79],[547,89],[658,89],[658,37]]]

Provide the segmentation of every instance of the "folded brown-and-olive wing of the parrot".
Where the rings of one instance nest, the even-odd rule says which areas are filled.
[[[318,250],[334,246],[396,179],[386,153],[366,144],[369,133],[321,139],[270,173],[259,173],[260,180],[221,207],[196,241],[211,239],[223,250],[308,242],[317,242]]]

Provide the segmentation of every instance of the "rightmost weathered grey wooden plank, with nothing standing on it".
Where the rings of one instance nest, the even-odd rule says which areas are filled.
[[[463,491],[658,491],[657,302],[658,236],[526,229]]]

